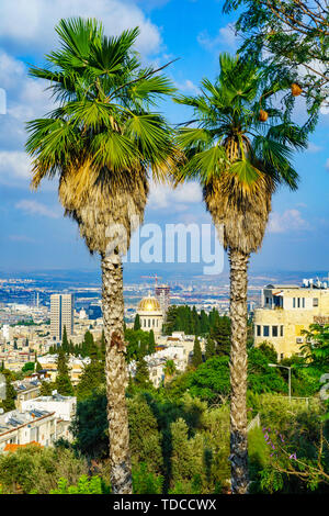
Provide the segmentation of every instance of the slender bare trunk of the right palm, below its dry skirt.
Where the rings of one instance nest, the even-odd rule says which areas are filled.
[[[231,491],[248,490],[247,440],[247,285],[249,255],[230,249],[230,463]]]

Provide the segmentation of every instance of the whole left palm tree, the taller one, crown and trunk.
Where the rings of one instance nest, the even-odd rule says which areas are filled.
[[[30,70],[57,101],[27,124],[32,186],[59,179],[65,215],[101,256],[111,481],[114,493],[132,493],[122,254],[143,220],[149,173],[163,179],[175,162],[170,127],[150,111],[174,89],[141,67],[132,49],[138,29],[106,37],[95,20],[78,18],[61,20],[56,32],[60,46],[46,56],[48,67]]]

